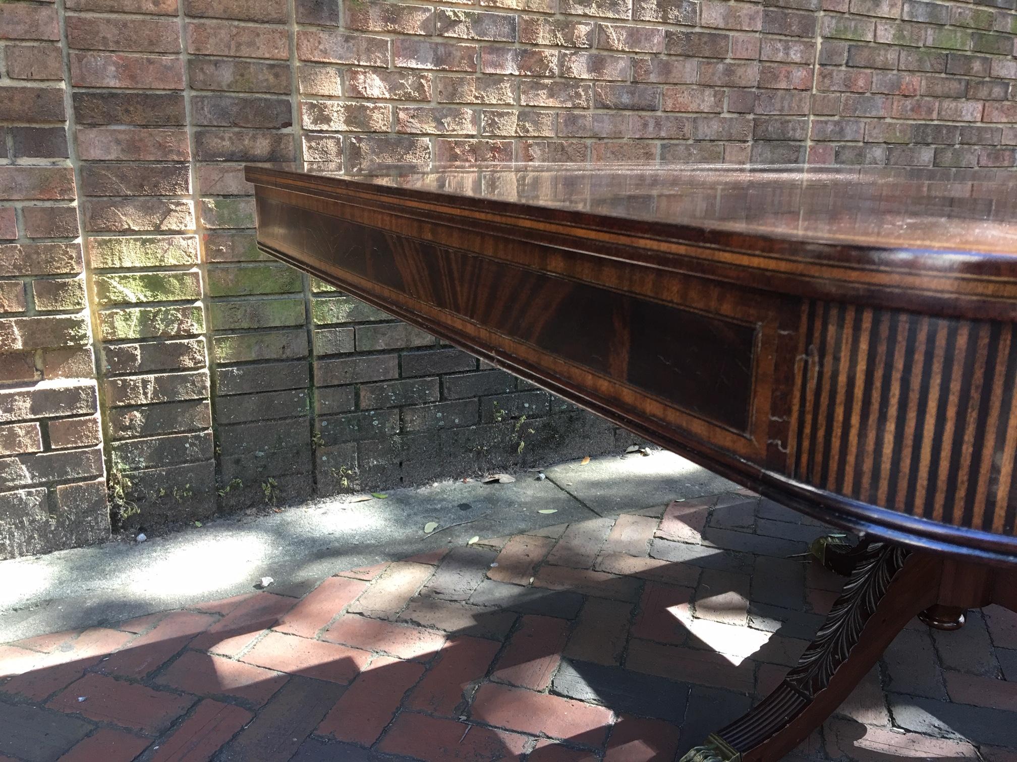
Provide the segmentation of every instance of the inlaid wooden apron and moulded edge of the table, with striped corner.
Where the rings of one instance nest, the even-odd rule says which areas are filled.
[[[1017,257],[247,177],[284,261],[794,508],[1017,559]]]

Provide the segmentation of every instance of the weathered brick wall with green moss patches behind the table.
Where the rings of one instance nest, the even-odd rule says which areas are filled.
[[[265,260],[244,163],[1012,166],[1015,2],[0,4],[0,556],[626,441]]]

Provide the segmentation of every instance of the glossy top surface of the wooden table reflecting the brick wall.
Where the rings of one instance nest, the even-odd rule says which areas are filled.
[[[1017,169],[515,164],[380,166],[344,177],[704,231],[1017,255]]]

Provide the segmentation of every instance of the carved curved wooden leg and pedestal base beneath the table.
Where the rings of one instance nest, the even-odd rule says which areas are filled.
[[[924,613],[933,626],[956,629],[966,609],[996,602],[1017,611],[1014,571],[877,542],[838,557],[850,558],[850,576],[797,665],[681,762],[775,762],[847,698],[913,617]]]

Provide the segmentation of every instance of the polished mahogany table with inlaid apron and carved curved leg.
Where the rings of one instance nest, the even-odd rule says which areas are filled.
[[[246,178],[261,251],[858,533],[797,665],[687,762],[780,759],[915,616],[1017,611],[1017,170]]]

